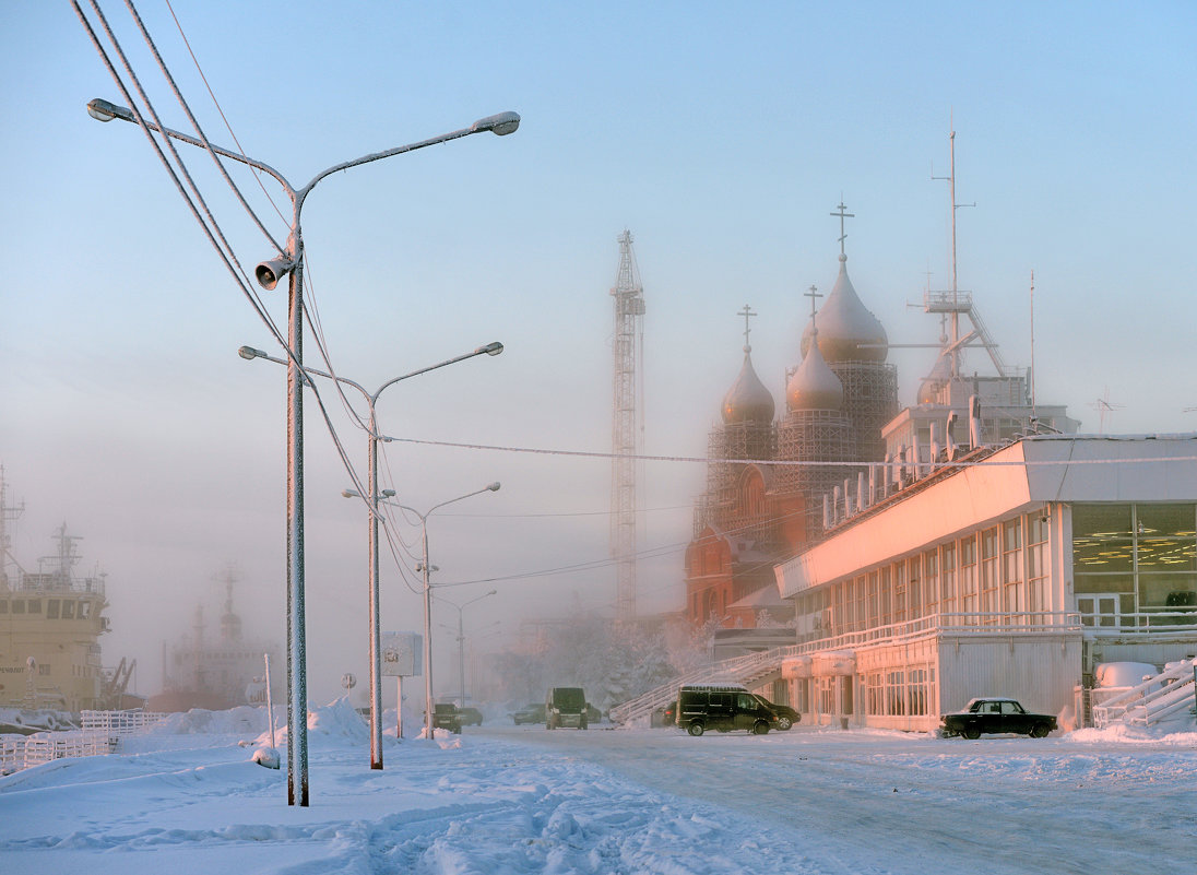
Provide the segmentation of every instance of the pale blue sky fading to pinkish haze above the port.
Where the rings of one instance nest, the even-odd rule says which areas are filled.
[[[165,123],[187,128],[124,7],[102,7]],[[1197,430],[1191,4],[138,10],[209,139],[233,145],[223,114],[247,154],[296,186],[481,116],[522,116],[509,136],[330,176],[303,212],[305,278],[338,373],[375,389],[505,345],[391,387],[377,407],[383,433],[431,442],[384,448],[384,486],[403,504],[424,511],[503,484],[429,522],[435,582],[461,584],[442,596],[497,591],[463,609],[478,650],[525,619],[612,610],[607,458],[437,444],[609,451],[624,229],[646,303],[649,455],[705,455],[740,370],[745,304],[759,314],[753,361],[782,407],[803,292],[836,278],[840,202],[864,304],[892,344],[936,342],[920,302],[928,284],[950,285],[949,189],[931,177],[948,175],[953,128],[956,203],[968,205],[956,209],[959,287],[1004,360],[1031,363],[1033,272],[1040,401],[1067,405],[1087,432]],[[36,570],[60,523],[83,537],[79,571],[108,575],[104,662],[138,658],[148,694],[163,640],[198,603],[219,613],[226,566],[247,627],[282,640],[285,378],[236,354],[280,350],[146,138],[84,111],[93,97],[123,101],[69,2],[0,0],[0,464],[25,503],[13,553]],[[272,244],[190,152],[251,271]],[[285,238],[255,178],[232,172]],[[284,326],[281,288],[261,299]],[[910,403],[934,351],[888,360]],[[363,431],[335,393],[322,397],[364,476]],[[366,517],[340,494],[350,475],[310,397],[305,433],[308,650],[322,695],[366,672]],[[638,468],[637,540],[654,553],[638,569],[643,613],[682,606],[704,482],[700,463]],[[399,536],[400,564],[384,551],[382,627],[415,630],[419,529]],[[597,566],[566,570],[578,564]],[[456,625],[452,608],[435,615]],[[452,676],[452,633],[435,639]]]

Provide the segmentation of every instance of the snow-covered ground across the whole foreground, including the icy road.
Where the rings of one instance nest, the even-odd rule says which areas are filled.
[[[0,871],[1193,873],[1197,731],[980,741],[798,727],[391,736],[310,725],[311,806],[251,756],[265,711],[177,715],[0,778]]]

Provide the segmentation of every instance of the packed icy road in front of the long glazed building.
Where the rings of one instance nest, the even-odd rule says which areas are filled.
[[[1197,871],[1192,745],[804,728],[577,735],[518,741],[772,824],[820,871]]]

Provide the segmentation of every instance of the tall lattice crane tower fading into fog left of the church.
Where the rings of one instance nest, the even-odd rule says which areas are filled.
[[[632,232],[619,236],[619,273],[612,342],[610,554],[615,559],[615,619],[636,619],[636,456],[643,413],[637,406],[637,359],[643,357],[644,288],[632,251]],[[639,339],[639,344],[637,340]]]

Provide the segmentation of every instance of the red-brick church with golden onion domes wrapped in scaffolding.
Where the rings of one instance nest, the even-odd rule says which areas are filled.
[[[843,218],[851,215],[836,213]],[[886,363],[881,322],[862,303],[847,275],[840,229],[839,274],[821,309],[812,286],[810,322],[802,359],[784,387],[777,415],[773,394],[752,363],[745,305],[743,364],[723,396],[711,431],[707,486],[694,512],[686,554],[692,622],[751,628],[785,622],[792,609],[777,595],[773,564],[820,536],[824,497],[855,488],[862,466],[885,458],[881,429],[898,412],[898,376]]]

